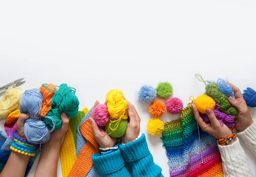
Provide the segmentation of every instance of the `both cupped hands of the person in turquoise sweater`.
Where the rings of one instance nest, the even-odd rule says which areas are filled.
[[[96,101],[94,104],[93,109],[99,104],[99,101]],[[136,138],[140,134],[140,117],[135,109],[135,107],[128,102],[128,116],[130,119],[130,122],[128,123],[128,127],[126,130],[125,135],[121,138],[122,142],[127,144],[131,143],[132,141],[136,140]],[[105,132],[103,128],[99,127],[99,130],[96,128],[96,123],[93,118],[89,118],[89,121],[91,123],[93,134],[95,139],[98,141],[99,146],[101,148],[111,148],[116,143],[116,138],[109,136],[108,134],[101,134],[99,131],[102,131],[102,133]]]

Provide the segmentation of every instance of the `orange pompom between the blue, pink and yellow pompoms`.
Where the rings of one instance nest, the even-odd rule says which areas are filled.
[[[149,106],[148,112],[154,117],[161,117],[166,112],[166,105],[161,100],[154,100]]]

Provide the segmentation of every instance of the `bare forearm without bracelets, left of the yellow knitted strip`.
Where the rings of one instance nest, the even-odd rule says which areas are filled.
[[[48,141],[44,143],[35,177],[56,177],[58,158],[61,149],[60,142]],[[47,169],[47,170],[46,170]]]

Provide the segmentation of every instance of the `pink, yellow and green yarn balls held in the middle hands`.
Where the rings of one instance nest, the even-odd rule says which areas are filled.
[[[105,126],[105,134],[116,138],[122,137],[128,126],[128,100],[125,100],[121,90],[112,89],[106,95],[106,104],[99,104],[93,109],[92,117],[96,127]]]

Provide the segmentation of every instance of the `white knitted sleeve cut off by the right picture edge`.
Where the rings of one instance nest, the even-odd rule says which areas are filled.
[[[256,157],[256,123],[237,134]]]

